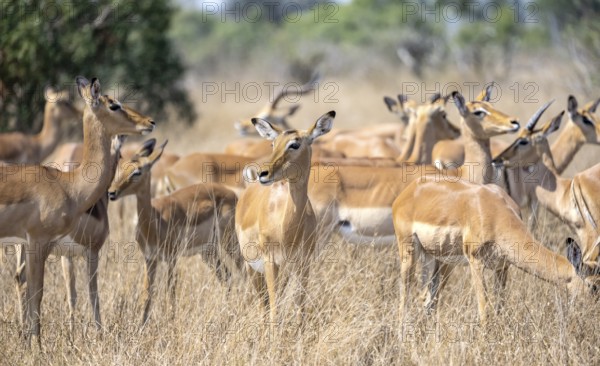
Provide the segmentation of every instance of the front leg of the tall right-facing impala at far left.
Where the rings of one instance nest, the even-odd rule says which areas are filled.
[[[30,239],[26,250],[27,268],[27,318],[31,340],[41,350],[40,315],[42,297],[44,296],[44,266],[49,254],[50,245],[46,240]]]

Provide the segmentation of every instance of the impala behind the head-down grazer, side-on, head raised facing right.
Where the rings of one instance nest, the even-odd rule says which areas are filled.
[[[317,217],[340,224],[341,234],[351,242],[394,243],[392,203],[415,179],[431,176],[438,180],[463,177],[476,183],[492,182],[489,139],[519,128],[516,120],[489,103],[466,103],[459,93],[454,102],[462,116],[467,168],[439,171],[432,165],[405,164],[398,168],[322,166],[310,180],[309,197]]]

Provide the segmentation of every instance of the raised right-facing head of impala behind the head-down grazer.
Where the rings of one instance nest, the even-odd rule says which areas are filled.
[[[454,99],[468,131],[476,138],[489,139],[492,136],[519,130],[519,122],[516,118],[507,116],[489,103],[489,91],[482,98],[483,100],[467,103],[463,96],[456,91],[452,93],[452,99]]]

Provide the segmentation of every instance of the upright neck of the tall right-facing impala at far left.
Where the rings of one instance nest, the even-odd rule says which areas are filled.
[[[95,204],[114,176],[115,166],[111,157],[111,136],[104,125],[86,106],[83,117],[83,158],[81,165],[71,173],[69,184],[79,212],[84,212]]]

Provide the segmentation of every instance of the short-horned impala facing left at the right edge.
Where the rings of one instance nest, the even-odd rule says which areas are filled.
[[[521,175],[514,182],[513,192],[519,193],[513,193],[517,202],[539,202],[559,217],[579,237],[584,263],[597,266],[600,204],[595,197],[600,192],[600,164],[580,172],[573,179],[560,177],[547,138],[558,130],[561,117],[562,113],[540,130],[521,136],[495,162],[515,169],[535,166],[536,171]]]

